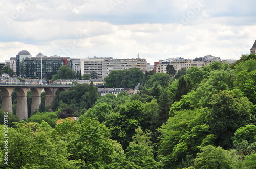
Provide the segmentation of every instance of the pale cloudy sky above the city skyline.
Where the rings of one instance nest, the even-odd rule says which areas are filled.
[[[2,0],[1,62],[36,56],[239,59],[256,40],[255,1]]]

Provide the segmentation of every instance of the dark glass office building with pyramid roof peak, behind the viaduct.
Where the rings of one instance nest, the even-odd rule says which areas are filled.
[[[35,57],[24,60],[24,78],[52,79],[57,74],[59,67],[67,65],[72,68],[70,57],[60,57],[57,55],[47,57],[38,53]]]

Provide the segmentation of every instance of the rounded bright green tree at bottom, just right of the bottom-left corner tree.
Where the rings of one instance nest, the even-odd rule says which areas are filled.
[[[74,131],[74,134],[67,135],[70,138],[68,151],[72,154],[70,159],[81,159],[84,162],[82,168],[103,168],[112,162],[114,148],[110,130],[105,125],[84,118],[74,126]]]

